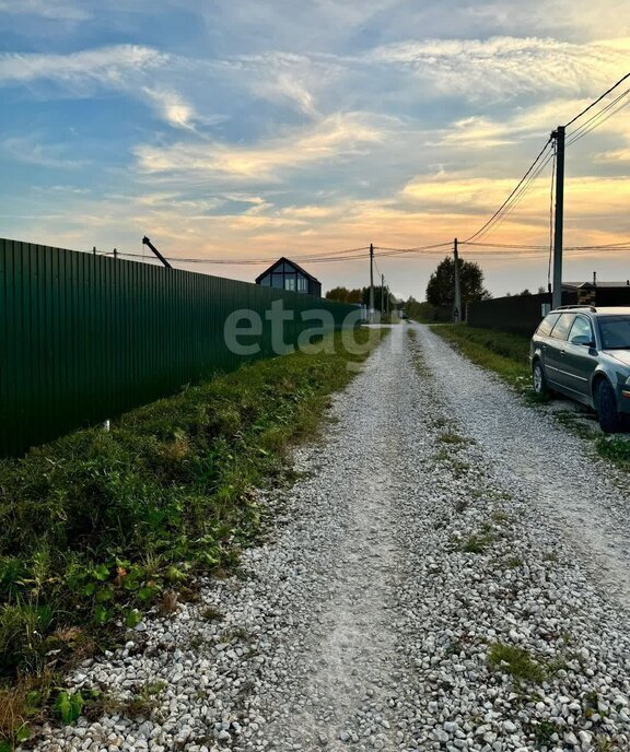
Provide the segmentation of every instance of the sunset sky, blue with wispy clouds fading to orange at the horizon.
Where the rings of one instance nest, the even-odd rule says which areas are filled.
[[[224,261],[466,238],[629,54],[628,0],[0,0],[0,236]],[[630,107],[568,148],[567,245],[630,240],[629,172]],[[550,186],[483,239],[548,245]],[[422,299],[442,251],[381,252]],[[563,277],[627,279],[626,252]],[[495,296],[547,284],[544,251],[462,257]]]

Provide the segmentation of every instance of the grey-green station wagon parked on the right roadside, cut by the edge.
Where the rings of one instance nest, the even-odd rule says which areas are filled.
[[[534,390],[560,392],[597,412],[607,433],[630,413],[630,308],[561,306],[532,338]]]

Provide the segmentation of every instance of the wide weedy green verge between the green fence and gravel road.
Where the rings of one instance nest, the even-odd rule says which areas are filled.
[[[83,697],[62,671],[191,598],[190,575],[221,575],[260,532],[253,493],[288,479],[288,449],[313,436],[330,395],[383,337],[341,336],[317,353],[248,365],[0,461],[0,752],[46,713]],[[55,708],[54,710],[51,708]]]

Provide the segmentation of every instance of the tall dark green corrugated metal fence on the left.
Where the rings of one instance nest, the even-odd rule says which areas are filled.
[[[0,297],[1,456],[275,354],[273,302],[293,314],[287,343],[316,326],[303,320],[310,309],[328,312],[328,329],[355,322],[352,306],[308,295],[5,239]],[[256,353],[225,341],[238,309],[260,317],[238,338]]]

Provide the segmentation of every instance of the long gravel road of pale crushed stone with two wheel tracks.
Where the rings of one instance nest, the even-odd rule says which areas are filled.
[[[626,479],[416,325],[332,418],[241,576],[80,667],[109,712],[34,747],[628,752]]]

